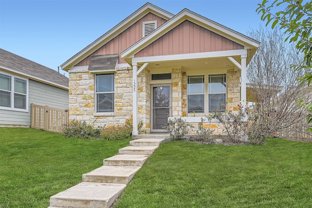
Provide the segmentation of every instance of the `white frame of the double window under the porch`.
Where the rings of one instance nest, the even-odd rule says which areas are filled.
[[[227,101],[227,86],[226,86],[226,92],[225,93],[209,93],[209,75],[225,75],[225,79],[227,80],[227,74],[226,73],[215,73],[215,74],[189,74],[187,75],[186,79],[188,80],[189,76],[200,76],[203,75],[204,81],[205,81],[205,93],[204,93],[204,113],[196,113],[196,114],[207,114],[209,113],[209,95],[210,94],[225,94],[225,101]],[[187,94],[187,103],[189,103]],[[192,95],[192,94],[191,94]],[[226,110],[226,109],[225,109]],[[189,107],[187,106],[187,112],[189,111]],[[188,112],[189,113],[189,112]],[[190,112],[192,113],[192,112]]]

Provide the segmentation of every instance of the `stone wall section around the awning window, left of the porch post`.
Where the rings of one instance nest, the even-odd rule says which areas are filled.
[[[69,71],[69,120],[86,121],[95,126],[124,124],[132,115],[132,69],[115,73],[114,113],[95,113],[95,75],[87,69]]]

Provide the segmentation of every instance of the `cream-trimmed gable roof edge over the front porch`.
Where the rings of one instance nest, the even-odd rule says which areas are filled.
[[[134,57],[136,53],[147,47],[152,42],[156,41],[158,38],[169,32],[185,20],[194,22],[195,24],[202,26],[203,28],[206,28],[218,35],[221,35],[240,45],[245,46],[245,48],[247,49],[251,49],[251,56],[254,55],[256,49],[259,47],[258,41],[249,38],[241,33],[238,33],[228,27],[225,27],[215,21],[200,16],[188,9],[183,9],[176,16],[156,28],[156,30],[149,34],[147,37],[142,38],[141,40],[137,41],[135,44],[124,50],[121,53],[121,57],[125,59],[129,64],[131,64],[131,58]]]

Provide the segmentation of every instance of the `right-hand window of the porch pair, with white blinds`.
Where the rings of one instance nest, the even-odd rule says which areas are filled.
[[[226,103],[226,75],[209,75],[208,79],[208,108],[213,112],[220,109],[220,104]]]

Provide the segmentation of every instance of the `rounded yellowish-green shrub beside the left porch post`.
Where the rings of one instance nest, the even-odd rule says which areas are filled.
[[[121,140],[131,137],[132,128],[129,125],[108,126],[102,130],[101,136],[106,140]]]

